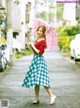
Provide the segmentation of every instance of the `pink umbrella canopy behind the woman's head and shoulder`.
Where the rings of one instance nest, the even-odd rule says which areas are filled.
[[[49,50],[57,51],[58,50],[58,40],[57,40],[57,33],[55,29],[48,24],[46,21],[38,18],[34,20],[34,32],[40,25],[46,26],[46,41],[47,41],[47,48]]]

